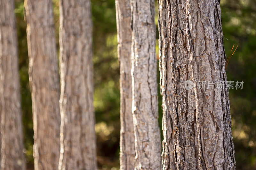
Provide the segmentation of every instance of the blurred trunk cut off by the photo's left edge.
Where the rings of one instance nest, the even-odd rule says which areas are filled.
[[[0,169],[25,169],[14,0],[0,1],[0,114]]]

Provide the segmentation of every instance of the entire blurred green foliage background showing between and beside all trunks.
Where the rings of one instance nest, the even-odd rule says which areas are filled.
[[[53,6],[56,46],[59,48],[58,0],[53,0]],[[227,56],[233,44],[235,47],[238,45],[227,67],[228,80],[244,81],[243,90],[229,91],[236,169],[256,169],[256,0],[221,0],[221,10]],[[28,169],[33,169],[33,122],[28,82],[26,23],[22,0],[16,0],[15,13],[19,39],[24,144]],[[115,1],[92,0],[92,20],[97,159],[99,169],[116,170],[119,169],[120,94]],[[158,33],[156,39],[158,39]],[[156,52],[158,55],[157,44]],[[160,127],[161,102],[162,98],[159,96]]]

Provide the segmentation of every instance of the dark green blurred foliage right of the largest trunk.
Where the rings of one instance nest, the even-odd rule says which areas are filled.
[[[226,54],[238,45],[228,80],[244,81],[243,90],[229,91],[236,168],[256,169],[256,1],[223,0],[221,9]]]

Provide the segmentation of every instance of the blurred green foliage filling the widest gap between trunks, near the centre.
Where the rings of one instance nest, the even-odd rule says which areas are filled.
[[[120,139],[115,1],[92,0],[91,2],[98,162],[99,168],[110,169],[119,166]]]

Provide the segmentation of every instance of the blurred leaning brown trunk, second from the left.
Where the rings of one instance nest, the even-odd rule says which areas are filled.
[[[58,169],[60,82],[51,0],[26,0],[35,169]]]

